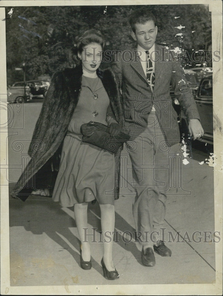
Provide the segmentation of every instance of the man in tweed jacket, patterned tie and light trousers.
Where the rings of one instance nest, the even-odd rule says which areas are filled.
[[[125,131],[129,131],[136,147],[129,149],[129,156],[136,180],[133,216],[142,244],[142,263],[154,266],[153,250],[161,256],[171,256],[171,250],[161,240],[167,196],[156,182],[159,176],[161,184],[168,183],[167,169],[159,169],[167,161],[163,147],[180,140],[170,84],[187,115],[194,140],[203,136],[203,128],[180,62],[173,61],[169,52],[155,43],[158,28],[153,14],[145,7],[137,9],[130,16],[130,25],[137,47],[118,52],[111,73],[122,93]],[[157,172],[146,165],[154,165]]]

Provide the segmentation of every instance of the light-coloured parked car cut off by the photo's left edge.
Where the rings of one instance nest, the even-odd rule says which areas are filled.
[[[28,85],[25,86],[24,94],[24,81],[15,82],[12,86],[7,87],[7,101],[8,102],[27,102],[31,96],[31,90]]]

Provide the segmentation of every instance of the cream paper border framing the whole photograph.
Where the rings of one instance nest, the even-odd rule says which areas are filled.
[[[222,1],[221,0],[70,0],[70,1],[0,1],[0,100],[7,100],[6,36],[4,7],[15,6],[72,6],[72,5],[158,5],[209,4],[212,19],[212,52],[220,51],[220,62],[213,62],[213,114],[220,124],[214,125],[214,213],[215,230],[222,231]],[[7,110],[0,110],[1,124],[7,122]],[[9,194],[7,166],[7,129],[1,129],[1,295],[222,295],[222,243],[215,244],[216,283],[213,284],[143,284],[143,285],[72,285],[72,286],[10,286],[9,270]],[[209,164],[210,165],[210,164]],[[222,233],[220,235],[222,240]],[[183,266],[182,266],[183,268]],[[144,270],[143,270],[144,272]]]

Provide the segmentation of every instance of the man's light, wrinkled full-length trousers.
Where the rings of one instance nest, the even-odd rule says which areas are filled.
[[[134,136],[134,131],[131,134]],[[152,247],[161,239],[167,196],[160,191],[165,191],[168,183],[166,140],[156,111],[148,115],[147,128],[136,134],[136,149],[128,151],[135,181],[132,187],[137,192],[132,210],[138,242]]]

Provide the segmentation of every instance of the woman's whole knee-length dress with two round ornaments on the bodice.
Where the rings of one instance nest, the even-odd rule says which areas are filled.
[[[96,199],[114,205],[114,155],[84,143],[80,126],[89,121],[107,125],[109,97],[100,78],[82,76],[77,106],[64,138],[53,200],[62,207]]]

